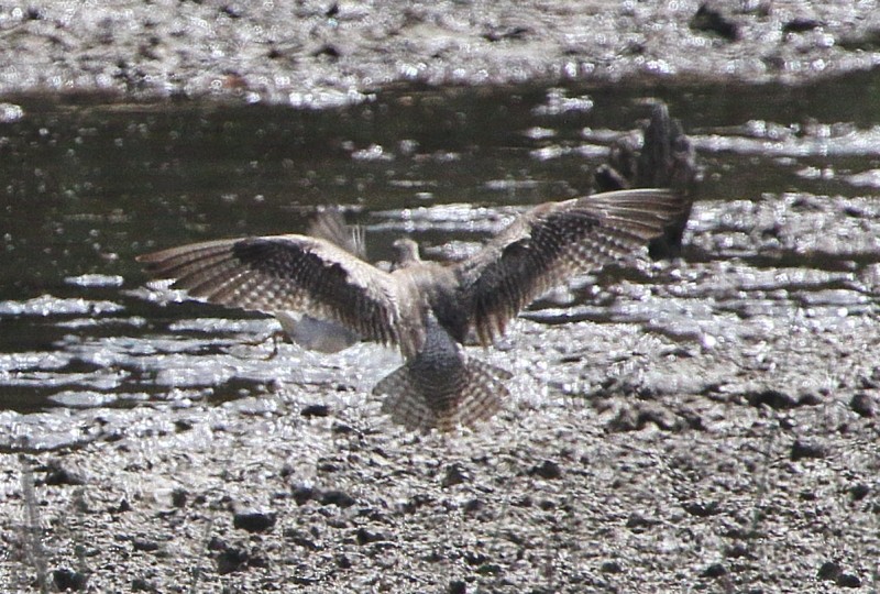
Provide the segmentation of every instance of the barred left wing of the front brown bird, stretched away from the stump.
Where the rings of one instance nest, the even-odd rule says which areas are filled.
[[[399,307],[389,274],[327,241],[272,235],[208,241],[138,257],[172,288],[229,307],[266,312],[297,310],[337,321],[367,340],[398,344],[420,341],[418,328]]]

